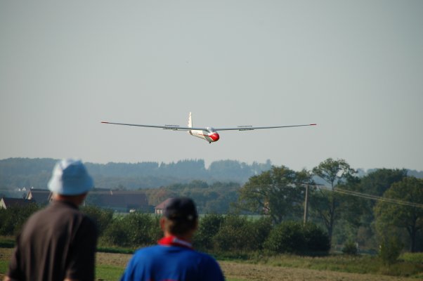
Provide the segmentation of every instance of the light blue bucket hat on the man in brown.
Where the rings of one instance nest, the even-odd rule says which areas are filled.
[[[79,159],[57,162],[48,181],[48,189],[60,195],[81,195],[89,192],[93,186],[93,178]]]

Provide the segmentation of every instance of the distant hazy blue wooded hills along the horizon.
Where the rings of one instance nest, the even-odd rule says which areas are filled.
[[[9,158],[0,160],[0,189],[46,188],[57,159]],[[206,169],[202,159],[178,162],[86,163],[97,188],[157,188],[193,180],[245,183],[250,176],[271,169],[271,162],[246,164],[235,160],[212,162]]]

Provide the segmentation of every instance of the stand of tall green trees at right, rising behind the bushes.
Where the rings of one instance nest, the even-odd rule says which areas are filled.
[[[423,251],[423,179],[405,169],[360,177],[344,159],[331,158],[311,171],[273,166],[242,185],[236,205],[270,216],[275,224],[307,215],[325,229],[335,249],[356,244],[376,252],[394,239],[401,250]]]

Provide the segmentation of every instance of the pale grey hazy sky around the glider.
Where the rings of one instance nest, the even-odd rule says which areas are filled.
[[[0,159],[423,170],[423,1],[0,1]],[[318,126],[186,132],[100,124]]]

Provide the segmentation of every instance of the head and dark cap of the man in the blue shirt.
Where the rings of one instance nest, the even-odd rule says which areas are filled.
[[[172,198],[164,208],[164,228],[173,235],[186,235],[197,227],[197,207],[188,197]]]

